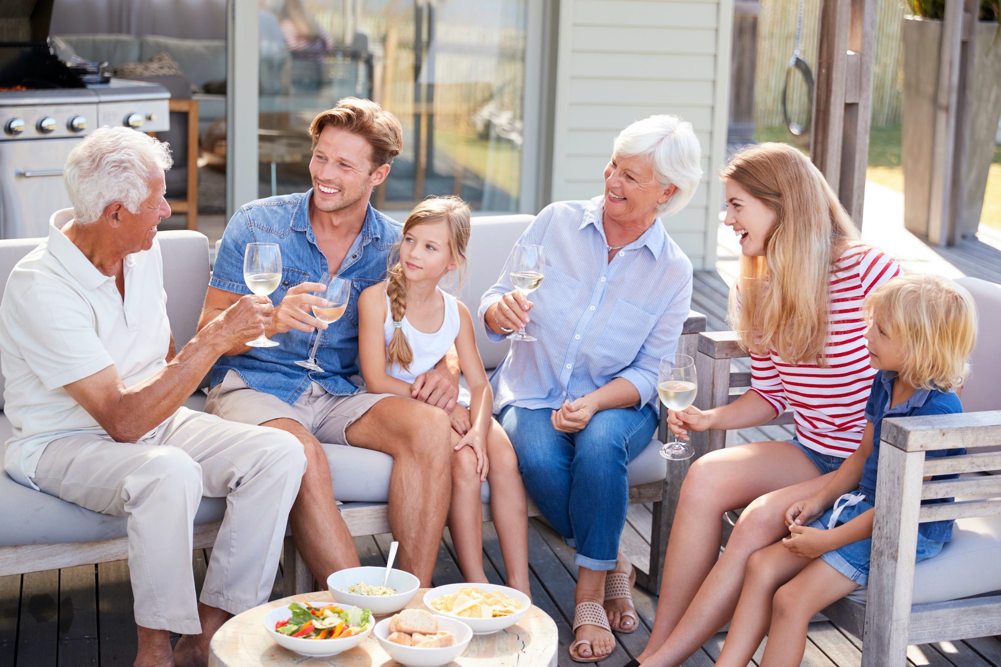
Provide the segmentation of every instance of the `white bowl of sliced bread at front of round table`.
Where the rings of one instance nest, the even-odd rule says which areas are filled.
[[[472,639],[461,621],[424,609],[404,609],[375,624],[372,635],[389,657],[409,667],[439,667],[458,658]]]

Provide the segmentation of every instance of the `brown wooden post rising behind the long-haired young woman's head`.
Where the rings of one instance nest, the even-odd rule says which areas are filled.
[[[876,0],[824,0],[810,154],[860,229],[875,35]]]

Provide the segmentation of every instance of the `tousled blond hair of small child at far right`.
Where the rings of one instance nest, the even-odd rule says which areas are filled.
[[[926,390],[962,386],[977,341],[970,292],[939,275],[908,273],[873,290],[863,309],[900,344],[902,381]]]

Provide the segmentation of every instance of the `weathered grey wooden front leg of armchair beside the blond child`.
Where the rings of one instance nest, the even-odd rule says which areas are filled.
[[[880,445],[862,667],[907,661],[924,463],[922,451]]]

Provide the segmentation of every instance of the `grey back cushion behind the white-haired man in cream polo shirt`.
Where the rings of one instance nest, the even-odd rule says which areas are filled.
[[[163,286],[167,291],[167,317],[174,343],[180,350],[194,336],[201,305],[208,289],[208,239],[197,231],[161,231]],[[0,294],[7,288],[10,272],[43,238],[0,240]],[[0,375],[0,410],[5,381]]]

